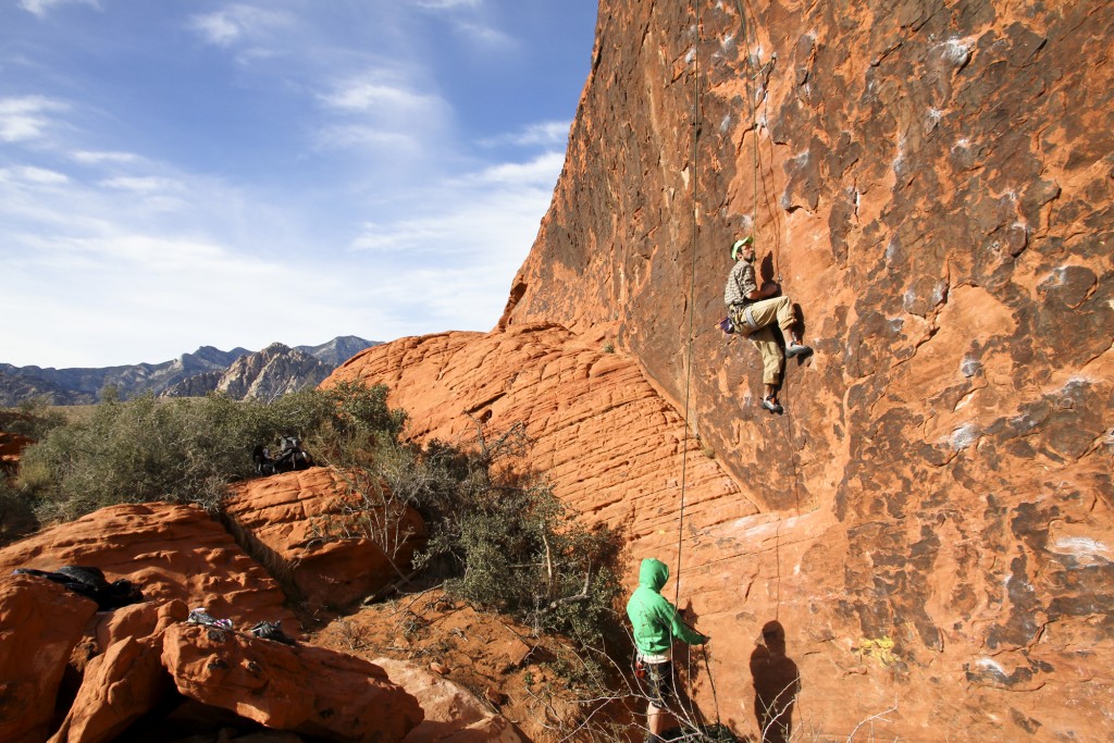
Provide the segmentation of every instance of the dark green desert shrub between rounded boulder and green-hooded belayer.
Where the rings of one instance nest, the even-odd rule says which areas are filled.
[[[539,478],[508,459],[525,447],[521,427],[470,451],[431,441],[398,447],[381,466],[395,497],[426,518],[418,564],[450,595],[509,614],[538,633],[561,632],[602,646],[616,624],[620,541],[586,526]]]

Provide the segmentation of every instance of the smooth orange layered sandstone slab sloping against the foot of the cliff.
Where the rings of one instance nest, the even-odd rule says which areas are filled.
[[[754,515],[638,364],[605,343],[557,325],[409,338],[368,349],[323,384],[389,385],[420,441],[476,447],[478,424],[489,442],[525,424],[522,463],[565,502],[623,529],[639,556],[675,555],[683,482],[693,522]]]

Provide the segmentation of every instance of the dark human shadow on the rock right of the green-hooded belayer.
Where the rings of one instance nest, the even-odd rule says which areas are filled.
[[[788,743],[793,737],[793,705],[801,692],[801,676],[785,655],[785,628],[780,622],[762,626],[762,639],[751,653],[751,676],[761,742]]]

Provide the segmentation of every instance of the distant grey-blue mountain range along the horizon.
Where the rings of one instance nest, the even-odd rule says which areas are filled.
[[[42,369],[0,363],[0,407],[40,398],[56,405],[97,402],[101,390],[115,387],[121,398],[143,392],[159,397],[201,397],[221,390],[237,400],[273,399],[319,384],[336,366],[377,341],[355,335],[334,338],[321,345],[290,348],[272,343],[262,351],[211,345],[158,364],[102,369]]]

